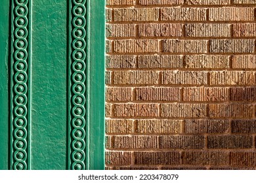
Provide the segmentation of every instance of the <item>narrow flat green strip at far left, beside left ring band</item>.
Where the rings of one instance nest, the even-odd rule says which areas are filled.
[[[9,2],[0,5],[0,170],[9,167]]]

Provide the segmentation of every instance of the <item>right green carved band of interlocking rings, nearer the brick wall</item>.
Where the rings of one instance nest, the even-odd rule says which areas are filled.
[[[70,167],[85,167],[85,70],[86,70],[86,2],[71,0],[70,3]]]

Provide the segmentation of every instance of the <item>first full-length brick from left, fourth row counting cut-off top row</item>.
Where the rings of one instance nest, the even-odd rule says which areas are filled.
[[[159,51],[156,39],[129,39],[114,41],[114,52],[117,53],[152,53]]]

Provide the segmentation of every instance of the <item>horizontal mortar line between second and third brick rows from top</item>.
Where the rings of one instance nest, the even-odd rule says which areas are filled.
[[[112,20],[106,24],[255,24],[255,20],[130,20],[130,21],[117,21]]]

